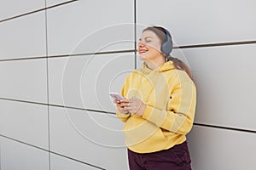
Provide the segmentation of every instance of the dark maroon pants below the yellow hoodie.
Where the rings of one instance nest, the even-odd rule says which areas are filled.
[[[169,150],[139,154],[128,150],[131,170],[191,170],[187,142],[177,144]]]

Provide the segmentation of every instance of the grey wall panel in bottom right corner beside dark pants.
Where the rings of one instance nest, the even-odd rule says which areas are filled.
[[[252,169],[256,165],[253,133],[194,126],[188,139],[193,169]]]

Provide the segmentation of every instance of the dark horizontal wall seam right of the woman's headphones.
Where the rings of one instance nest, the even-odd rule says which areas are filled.
[[[208,47],[230,46],[230,45],[246,45],[246,44],[253,44],[253,43],[256,43],[256,41],[207,43],[207,44],[178,46],[174,48],[208,48]]]

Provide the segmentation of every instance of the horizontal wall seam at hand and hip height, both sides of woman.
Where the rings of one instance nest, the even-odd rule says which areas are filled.
[[[20,99],[6,99],[6,98],[0,98],[0,99],[35,104],[35,105],[48,105],[48,104],[44,104],[44,103],[32,102],[32,101],[26,101],[26,100],[20,100]],[[54,105],[54,104],[49,104],[49,106],[67,108],[67,109],[73,109],[73,110],[79,110],[79,111],[94,111],[94,112],[115,115],[115,112],[111,112],[111,111],[99,111],[99,110],[95,110],[95,109],[84,109],[84,108],[79,108],[79,107],[65,106],[65,105]],[[220,128],[220,129],[226,129],[226,130],[232,130],[232,131],[238,131],[238,132],[245,132],[245,133],[256,133],[256,130],[248,130],[248,129],[235,128],[235,127],[222,127],[222,126],[203,124],[203,123],[197,123],[197,122],[194,122],[193,125],[201,126],[201,127],[214,127],[214,128]]]

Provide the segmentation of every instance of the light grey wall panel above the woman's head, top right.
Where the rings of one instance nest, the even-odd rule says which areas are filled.
[[[178,46],[255,40],[255,5],[253,0],[139,0],[137,32],[142,25],[165,26]]]

